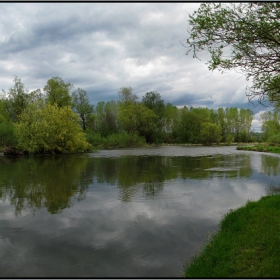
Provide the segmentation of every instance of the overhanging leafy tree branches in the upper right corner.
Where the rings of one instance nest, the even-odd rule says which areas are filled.
[[[209,70],[236,69],[251,79],[249,100],[280,101],[280,3],[204,3],[190,15],[187,44],[210,54]]]

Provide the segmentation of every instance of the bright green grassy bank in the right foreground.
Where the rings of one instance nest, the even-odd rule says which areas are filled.
[[[280,195],[229,212],[220,231],[184,269],[183,276],[279,277]]]

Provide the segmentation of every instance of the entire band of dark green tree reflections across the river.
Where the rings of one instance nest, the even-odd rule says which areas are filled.
[[[73,200],[83,200],[89,184],[119,188],[119,199],[131,201],[138,193],[154,197],[165,181],[176,178],[207,179],[215,176],[249,177],[250,155],[200,157],[123,156],[88,158],[85,155],[0,157],[0,197],[15,206],[16,214],[24,209],[46,207],[59,213],[71,207]],[[209,171],[210,168],[232,168]]]

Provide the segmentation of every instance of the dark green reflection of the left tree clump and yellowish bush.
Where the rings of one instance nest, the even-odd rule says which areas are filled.
[[[59,213],[71,206],[72,198],[85,198],[92,183],[92,176],[83,178],[86,163],[86,157],[77,155],[0,157],[0,196],[10,200],[16,215],[43,207]]]

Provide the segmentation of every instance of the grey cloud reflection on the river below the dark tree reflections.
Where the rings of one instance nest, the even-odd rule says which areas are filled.
[[[86,200],[59,215],[40,210],[35,220],[6,221],[0,269],[21,277],[180,276],[222,215],[245,204],[252,191],[261,195],[263,187],[249,180],[170,180],[150,203],[141,192],[123,203],[115,199],[116,186],[95,185]]]

